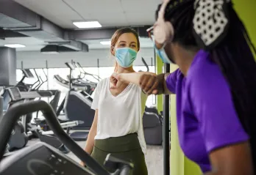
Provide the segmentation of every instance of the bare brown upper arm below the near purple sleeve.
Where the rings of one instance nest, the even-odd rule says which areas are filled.
[[[213,171],[205,175],[253,175],[248,142],[226,146],[210,152]]]

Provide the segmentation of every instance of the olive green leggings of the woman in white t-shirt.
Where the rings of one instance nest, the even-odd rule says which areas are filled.
[[[132,174],[148,174],[145,157],[141,150],[137,133],[124,135],[122,137],[95,140],[91,157],[101,165],[104,165],[104,160],[109,153],[122,160],[132,162],[134,165]],[[106,169],[110,172],[115,171],[109,168]]]

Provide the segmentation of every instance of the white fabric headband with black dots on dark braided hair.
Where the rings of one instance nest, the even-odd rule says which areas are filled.
[[[226,36],[230,0],[196,0],[193,34],[200,48],[211,50]]]

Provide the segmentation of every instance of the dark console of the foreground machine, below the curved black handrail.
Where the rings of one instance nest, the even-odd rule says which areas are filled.
[[[57,149],[42,142],[1,160],[0,175],[92,175]]]

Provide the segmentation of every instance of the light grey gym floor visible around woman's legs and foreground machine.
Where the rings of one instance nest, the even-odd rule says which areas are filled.
[[[35,144],[38,139],[30,140],[28,145]],[[82,148],[85,147],[86,141],[77,141],[77,144]],[[71,159],[80,162],[79,158],[72,152],[66,154]],[[149,175],[163,174],[163,146],[147,146],[146,165],[148,167]]]

